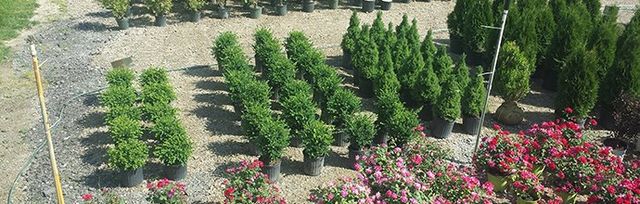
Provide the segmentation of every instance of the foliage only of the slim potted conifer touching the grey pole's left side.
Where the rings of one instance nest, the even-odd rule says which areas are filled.
[[[469,85],[462,96],[462,115],[466,117],[480,117],[484,110],[484,98],[487,90],[484,85],[484,77],[480,75],[482,67],[475,67],[476,75],[471,77]]]

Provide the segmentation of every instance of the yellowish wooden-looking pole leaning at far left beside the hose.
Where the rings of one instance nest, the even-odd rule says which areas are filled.
[[[40,112],[42,113],[42,123],[44,125],[44,132],[47,135],[47,144],[49,146],[49,160],[51,161],[51,171],[53,173],[53,181],[56,187],[56,200],[58,204],[64,204],[64,197],[62,195],[62,183],[60,182],[60,173],[58,172],[56,155],[53,149],[53,142],[51,140],[51,125],[49,124],[49,115],[47,114],[47,107],[45,105],[45,99],[44,99],[44,90],[42,88],[42,77],[40,75],[40,65],[38,63],[36,45],[34,44],[31,44],[31,57],[33,58],[33,73],[36,78],[36,88],[38,89],[38,100],[40,101]]]

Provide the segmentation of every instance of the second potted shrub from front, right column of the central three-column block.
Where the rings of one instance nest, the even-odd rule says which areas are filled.
[[[360,98],[353,92],[340,88],[329,97],[326,112],[322,112],[322,120],[332,124],[338,131],[335,133],[335,144],[341,147],[347,146],[348,135],[343,132],[347,118],[360,111]]]

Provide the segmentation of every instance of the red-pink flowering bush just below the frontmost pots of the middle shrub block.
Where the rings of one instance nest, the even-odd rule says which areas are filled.
[[[259,160],[242,161],[239,166],[227,169],[224,181],[224,203],[284,204],[280,189],[260,172],[263,163]]]

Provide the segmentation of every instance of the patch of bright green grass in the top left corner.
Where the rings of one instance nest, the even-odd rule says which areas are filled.
[[[0,0],[0,62],[9,56],[4,41],[15,38],[20,30],[33,25],[29,19],[37,6],[36,0]]]

